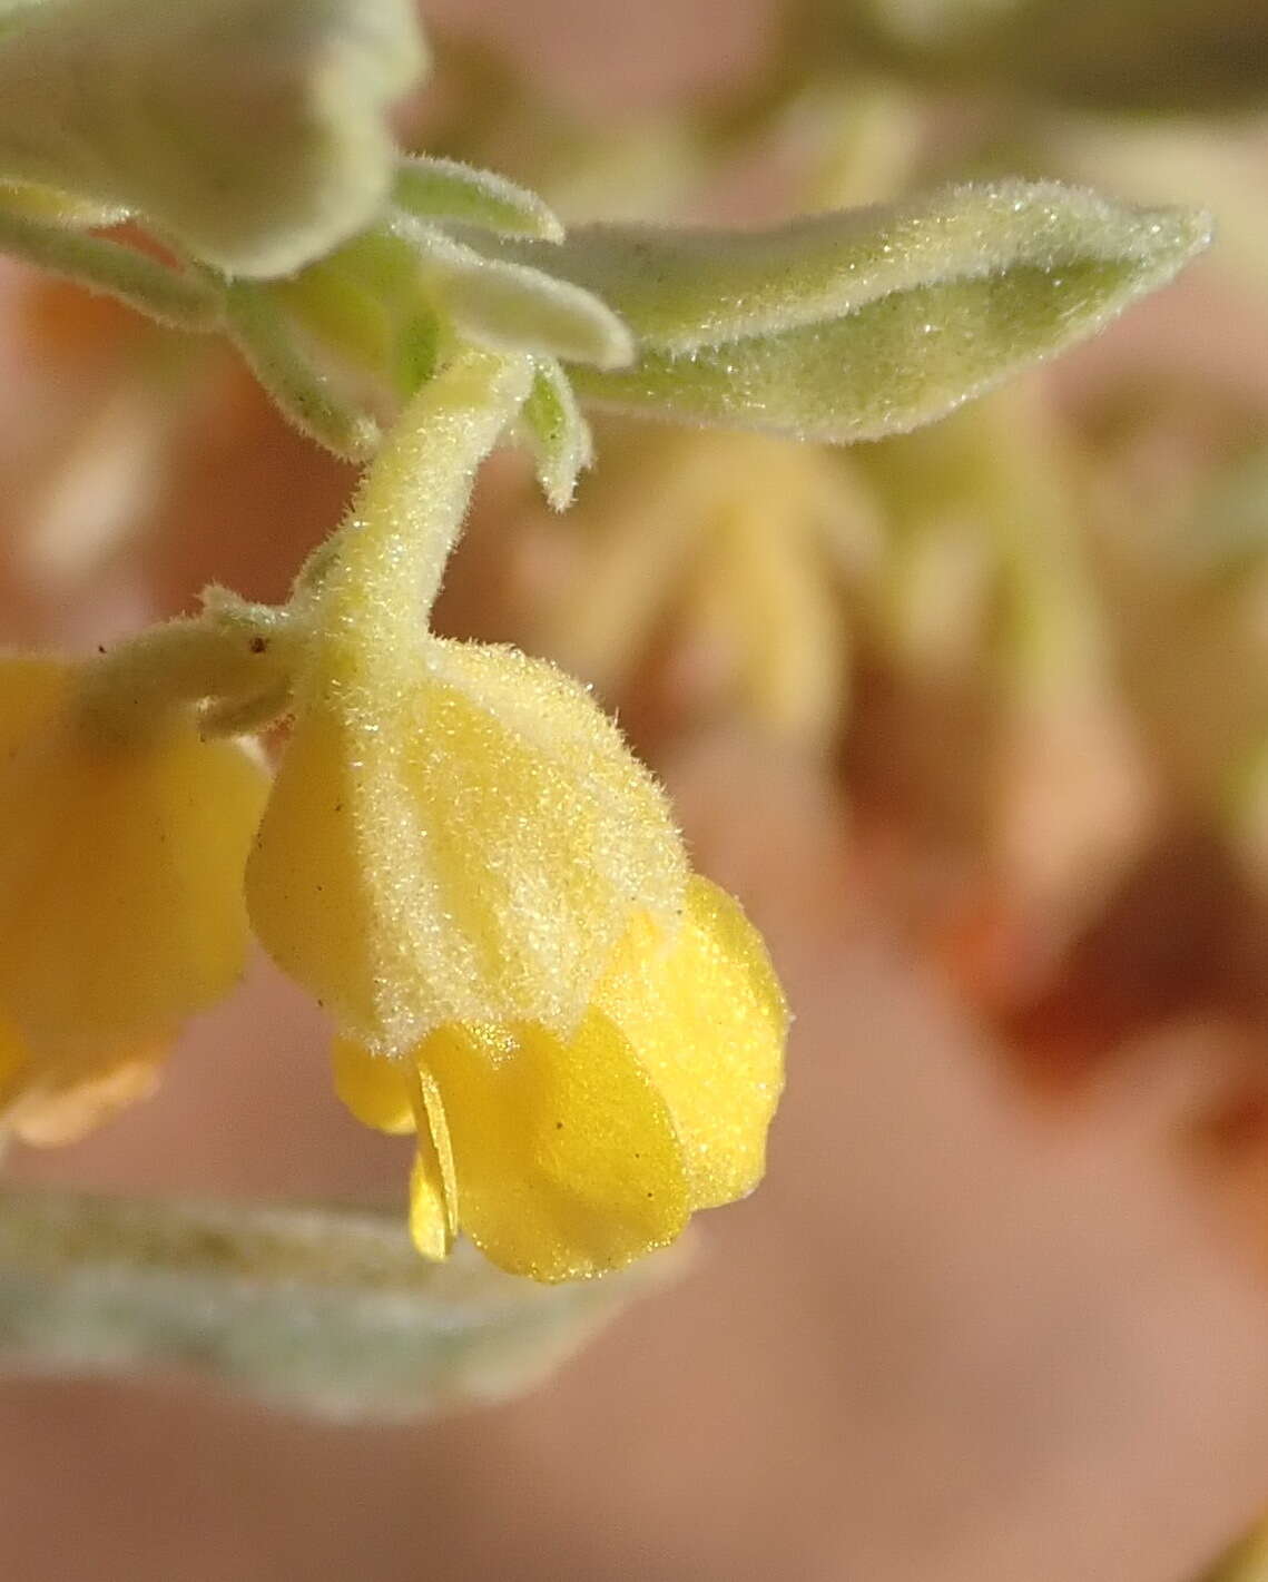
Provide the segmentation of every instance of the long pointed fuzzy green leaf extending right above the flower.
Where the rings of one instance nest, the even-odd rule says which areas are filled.
[[[1001,182],[775,231],[590,226],[549,253],[645,348],[576,369],[582,399],[844,441],[928,422],[1091,335],[1208,240],[1191,210]],[[547,267],[542,244],[508,252]]]

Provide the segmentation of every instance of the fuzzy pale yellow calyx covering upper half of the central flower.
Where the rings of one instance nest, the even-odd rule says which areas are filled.
[[[248,869],[266,948],[376,1052],[449,1024],[569,1035],[631,908],[681,908],[661,791],[549,664],[428,638],[386,685],[338,652]]]

